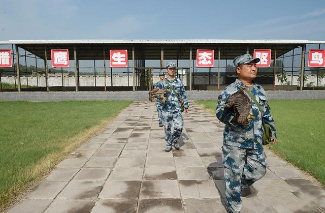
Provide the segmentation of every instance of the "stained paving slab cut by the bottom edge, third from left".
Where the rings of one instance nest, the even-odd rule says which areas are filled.
[[[133,213],[137,211],[137,204],[137,199],[101,199],[96,202],[95,206],[91,209],[91,213]]]

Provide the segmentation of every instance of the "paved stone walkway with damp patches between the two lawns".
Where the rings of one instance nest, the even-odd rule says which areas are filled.
[[[192,102],[184,120],[181,150],[165,153],[154,103],[134,102],[9,212],[226,212],[223,125]],[[325,190],[266,153],[241,212],[325,212]]]

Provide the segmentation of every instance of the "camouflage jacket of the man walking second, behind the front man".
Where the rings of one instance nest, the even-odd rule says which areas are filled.
[[[168,77],[165,79],[174,87],[179,98],[183,99],[184,107],[185,107],[185,109],[187,109],[188,102],[187,102],[187,97],[185,96],[185,88],[184,88],[182,80],[180,78],[176,78],[176,77],[173,81],[169,80]],[[168,85],[168,83],[165,82],[165,80],[161,81],[160,84],[163,86],[163,88],[169,88],[169,85]],[[168,92],[164,96],[167,98],[166,103],[164,105],[161,104],[161,102],[159,103],[159,104],[161,104],[161,107],[163,108],[163,110],[169,111],[169,112],[181,111],[181,104],[171,88],[168,90]],[[158,104],[158,102],[157,102],[157,104]]]

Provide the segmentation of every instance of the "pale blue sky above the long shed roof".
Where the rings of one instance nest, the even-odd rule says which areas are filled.
[[[0,40],[308,39],[325,41],[324,0],[0,0],[0,5]]]

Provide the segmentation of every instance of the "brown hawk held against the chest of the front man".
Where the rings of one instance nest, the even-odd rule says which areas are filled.
[[[245,89],[246,87],[238,89],[238,91],[232,94],[223,104],[226,109],[231,107],[234,108],[235,121],[241,125],[248,125],[247,120],[250,121],[255,118],[255,116],[249,112],[252,108],[252,104],[250,99],[244,93]]]

